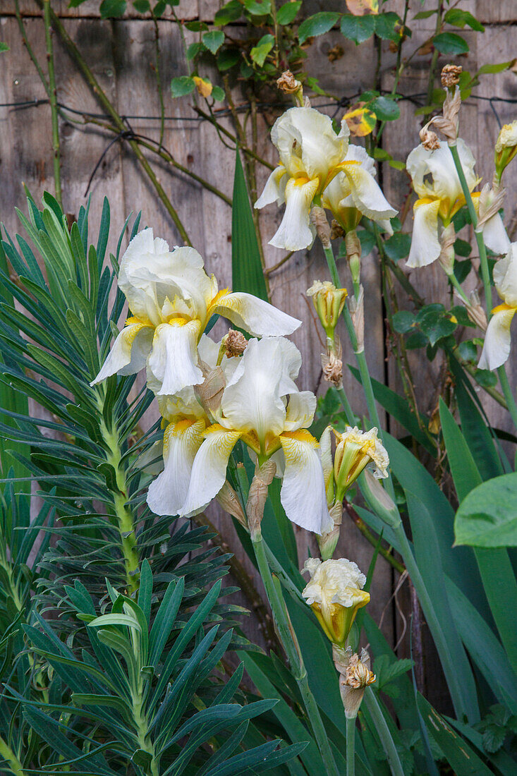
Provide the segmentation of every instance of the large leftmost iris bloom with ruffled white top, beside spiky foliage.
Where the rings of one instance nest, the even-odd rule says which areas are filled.
[[[193,248],[175,248],[144,229],[127,247],[118,279],[131,316],[113,343],[92,385],[147,366],[147,383],[158,396],[203,381],[197,345],[215,314],[250,334],[292,334],[300,320],[248,293],[217,290],[203,258]]]

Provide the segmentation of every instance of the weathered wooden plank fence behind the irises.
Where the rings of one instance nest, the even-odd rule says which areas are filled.
[[[130,4],[128,4],[130,5]],[[321,0],[304,2],[304,12],[321,9],[342,10],[341,2]],[[424,7],[434,8],[435,0],[426,0]],[[176,9],[180,19],[205,19],[210,21],[220,6],[217,0],[182,0]],[[20,0],[19,7],[24,18],[26,35],[38,60],[45,63],[45,40],[41,12],[35,0]],[[128,10],[124,19],[103,21],[99,18],[99,2],[87,0],[77,9],[68,8],[64,0],[54,0],[54,11],[61,18],[64,28],[77,44],[95,78],[116,106],[121,116],[127,117],[132,129],[154,139],[158,138],[157,120],[159,114],[158,95],[154,78],[154,36],[151,20],[143,19],[136,12]],[[402,12],[403,0],[388,0],[383,10]],[[486,26],[483,35],[467,33],[470,54],[460,58],[463,68],[473,73],[481,64],[494,61],[511,60],[517,56],[515,47],[515,2],[462,2],[462,7],[477,15]],[[130,6],[131,9],[131,6]],[[422,10],[420,0],[412,0],[409,19],[415,12]],[[411,23],[412,47],[424,41],[434,29],[434,18],[422,19]],[[174,76],[187,73],[183,54],[182,38],[174,19],[165,19],[158,23],[161,40],[161,81],[165,85],[165,135],[164,146],[172,153],[180,165],[206,178],[213,186],[231,198],[234,173],[234,150],[225,147],[217,136],[213,126],[199,120],[192,108],[192,97],[173,100],[168,84]],[[7,229],[15,232],[19,227],[14,213],[15,206],[24,207],[23,184],[38,199],[45,189],[54,190],[52,179],[52,147],[50,132],[50,108],[46,94],[36,75],[33,62],[26,47],[23,46],[19,26],[15,16],[14,0],[0,0],[0,40],[9,44],[10,51],[1,55],[0,61],[0,220]],[[191,33],[186,31],[187,38]],[[240,30],[234,31],[235,35]],[[343,49],[342,57],[330,61],[328,51],[339,43]],[[61,103],[74,109],[79,123],[60,120],[60,139],[62,154],[62,183],[64,207],[75,215],[79,206],[85,203],[88,181],[95,165],[95,171],[89,187],[92,196],[92,226],[99,223],[104,195],[109,196],[112,223],[116,229],[122,227],[130,210],[142,211],[142,223],[154,227],[156,235],[165,237],[170,244],[179,242],[171,218],[158,200],[154,189],[142,173],[134,154],[123,140],[117,140],[108,147],[113,135],[91,123],[81,123],[82,113],[101,114],[103,110],[95,99],[92,88],[88,86],[77,64],[71,60],[58,36],[54,36],[57,95]],[[355,95],[363,89],[377,85],[377,88],[391,88],[393,82],[394,54],[387,42],[381,43],[380,67],[377,67],[377,53],[373,40],[356,47],[344,40],[337,32],[314,39],[307,50],[307,71],[320,78],[321,85],[330,92],[343,98]],[[398,91],[404,95],[418,95],[425,92],[429,78],[430,54],[415,56],[401,80]],[[446,59],[440,60],[442,64]],[[491,75],[474,90],[477,97],[469,99],[463,109],[462,135],[477,156],[478,174],[485,179],[491,178],[491,164],[494,139],[498,133],[498,120],[502,123],[515,117],[515,106],[510,102],[501,102],[488,98],[517,98],[517,75],[513,71]],[[245,99],[238,89],[234,92],[237,103]],[[36,101],[41,101],[36,103]],[[314,100],[317,106],[328,99]],[[333,109],[330,109],[332,110]],[[269,142],[268,128],[275,118],[272,109],[267,109],[259,118],[260,154],[275,161],[275,152]],[[227,122],[231,130],[230,120]],[[418,142],[419,119],[415,117],[415,106],[411,100],[401,102],[401,119],[388,123],[383,137],[383,147],[396,159],[404,160],[411,148]],[[233,144],[229,143],[230,146]],[[106,153],[105,153],[106,152]],[[161,181],[168,197],[172,200],[185,225],[189,237],[206,261],[210,272],[214,272],[220,281],[220,287],[231,284],[231,209],[220,197],[203,189],[193,178],[185,175],[165,161],[151,160],[152,168]],[[259,191],[262,189],[268,170],[259,170]],[[400,171],[383,166],[380,171],[383,189],[396,207],[401,207],[409,193],[408,178]],[[515,230],[515,192],[517,191],[517,165],[508,169],[506,180],[512,196],[508,197],[508,209],[505,221],[510,233]],[[266,242],[276,230],[280,213],[274,206],[261,212],[261,227]],[[411,228],[411,216],[407,221]],[[112,246],[113,247],[113,246]],[[268,267],[276,265],[283,258],[283,251],[265,244],[265,260]],[[245,259],[245,257],[243,257]],[[345,267],[342,267],[345,274]],[[311,319],[310,309],[304,301],[305,290],[314,279],[327,277],[324,260],[315,249],[311,255],[300,251],[289,262],[275,272],[271,272],[272,302],[290,314],[304,320],[303,327],[293,335],[293,341],[300,348],[304,365],[300,376],[300,387],[304,390],[324,390],[321,386],[321,365],[319,353],[321,345],[317,329]],[[415,284],[426,302],[445,301],[446,280],[437,265],[411,272],[411,282]],[[383,305],[380,293],[380,270],[376,255],[370,254],[364,262],[363,284],[366,296],[366,354],[370,370],[376,379],[387,382],[395,390],[401,391],[397,370],[390,359],[385,341]],[[400,296],[401,303],[411,309],[411,305]],[[345,342],[345,336],[342,337]],[[353,361],[352,352],[345,345],[344,360]],[[438,398],[437,386],[442,370],[438,356],[429,364],[422,352],[415,352],[411,365],[416,376],[415,391],[422,411],[432,413]],[[513,369],[514,384],[517,380],[517,367]],[[352,407],[359,413],[365,411],[361,390],[352,377],[345,377],[345,389],[349,394]],[[505,414],[492,401],[486,402],[488,413],[494,424],[505,427]],[[218,525],[224,541],[234,551],[255,579],[262,594],[260,580],[239,546],[231,522],[228,518],[213,511],[213,521]],[[307,534],[297,529],[300,557],[307,556]],[[339,551],[342,555],[355,559],[362,569],[370,562],[373,549],[357,532],[352,523],[342,527]],[[314,553],[314,547],[313,547]],[[390,566],[380,559],[373,580],[373,600],[370,613],[377,622],[383,617],[383,632],[390,643],[397,643],[401,636],[404,617],[411,612],[411,601],[404,591],[398,596],[398,608],[390,600],[394,584],[394,574]],[[241,598],[249,606],[246,598]],[[253,638],[261,639],[253,618],[247,625]],[[404,644],[402,645],[404,653]],[[429,653],[431,654],[431,653]],[[428,688],[433,702],[440,703],[442,690],[437,689],[435,681],[436,663],[428,657],[427,674],[432,676],[432,687]],[[434,688],[434,689],[433,689]]]

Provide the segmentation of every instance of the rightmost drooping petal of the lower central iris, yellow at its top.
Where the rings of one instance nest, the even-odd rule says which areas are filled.
[[[321,535],[331,531],[327,496],[317,441],[308,431],[293,431],[280,437],[285,457],[280,501],[291,522]]]

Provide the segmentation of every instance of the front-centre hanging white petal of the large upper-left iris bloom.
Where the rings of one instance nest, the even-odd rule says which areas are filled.
[[[183,326],[172,322],[156,327],[147,361],[147,384],[157,396],[203,382],[203,372],[197,366],[199,331],[199,320],[189,320]]]

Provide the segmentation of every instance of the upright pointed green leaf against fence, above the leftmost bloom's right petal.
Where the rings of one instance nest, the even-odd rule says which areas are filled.
[[[233,208],[231,212],[231,283],[234,291],[245,291],[268,300],[259,245],[249,204],[239,151],[235,156]]]

